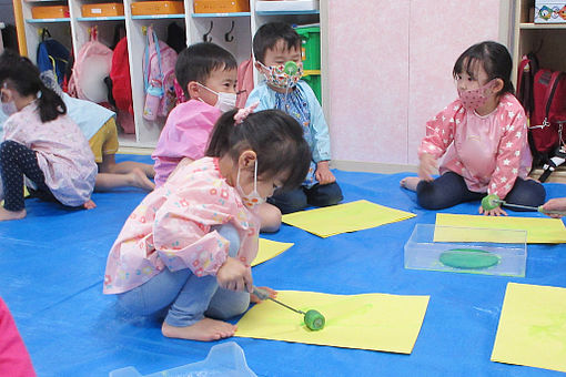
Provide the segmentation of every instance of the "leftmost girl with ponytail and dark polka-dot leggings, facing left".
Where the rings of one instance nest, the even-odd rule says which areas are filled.
[[[0,93],[9,115],[0,144],[0,221],[26,217],[23,175],[47,198],[93,208],[97,164],[89,143],[28,58],[9,50],[0,55]]]

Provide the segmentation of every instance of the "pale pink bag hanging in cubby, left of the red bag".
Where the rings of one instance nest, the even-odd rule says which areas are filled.
[[[69,80],[70,95],[95,103],[108,101],[104,79],[112,67],[112,50],[98,41],[97,27],[91,28],[90,41],[84,43],[74,60]]]

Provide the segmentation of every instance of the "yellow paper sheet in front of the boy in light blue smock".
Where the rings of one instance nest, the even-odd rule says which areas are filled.
[[[332,205],[283,215],[283,222],[323,238],[395,223],[416,216],[414,213],[390,208],[368,201]]]

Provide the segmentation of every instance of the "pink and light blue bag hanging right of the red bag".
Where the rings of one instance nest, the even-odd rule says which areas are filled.
[[[152,27],[148,27],[148,44],[143,58],[145,105],[143,118],[153,121],[166,118],[174,108],[176,52],[160,41]]]

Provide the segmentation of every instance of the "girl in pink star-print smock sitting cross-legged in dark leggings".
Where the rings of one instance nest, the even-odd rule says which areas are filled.
[[[416,191],[418,204],[441,210],[495,194],[507,203],[538,206],[545,188],[528,180],[532,155],[523,106],[513,95],[513,64],[507,49],[496,42],[468,48],[453,75],[458,96],[426,124],[418,149],[418,177],[401,185]],[[433,180],[437,160],[441,176]],[[485,215],[502,215],[497,206]]]

